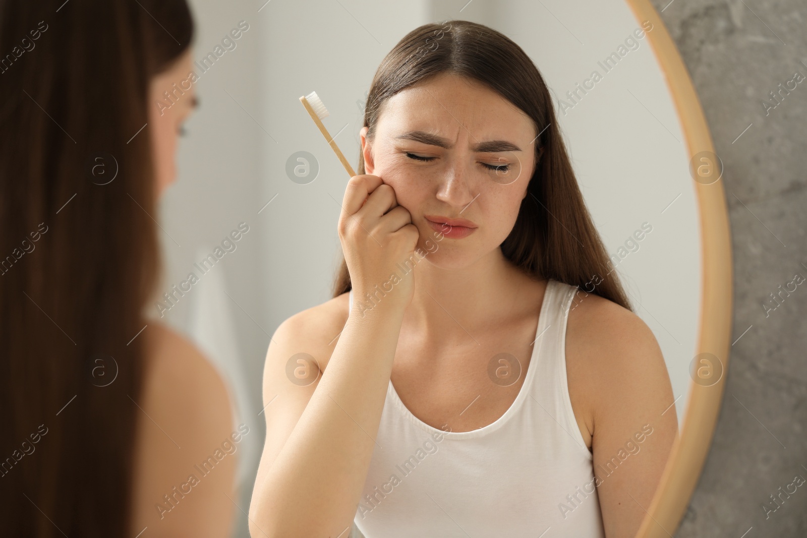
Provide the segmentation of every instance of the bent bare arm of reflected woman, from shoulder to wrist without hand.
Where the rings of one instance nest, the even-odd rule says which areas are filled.
[[[349,535],[403,319],[381,307],[349,317],[309,386],[286,377],[286,362],[333,336],[313,334],[323,327],[314,315],[293,316],[275,332],[264,372],[266,444],[249,509],[253,537]]]

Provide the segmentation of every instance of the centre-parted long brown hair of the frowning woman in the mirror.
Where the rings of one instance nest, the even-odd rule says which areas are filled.
[[[533,119],[537,165],[504,256],[525,273],[553,278],[598,294],[631,310],[613,274],[596,227],[580,194],[563,143],[550,92],[529,56],[506,35],[462,20],[424,24],[410,31],[382,60],[367,94],[364,126],[372,140],[387,99],[441,73],[487,85]],[[365,173],[359,153],[358,172]],[[333,296],[351,289],[344,256]]]

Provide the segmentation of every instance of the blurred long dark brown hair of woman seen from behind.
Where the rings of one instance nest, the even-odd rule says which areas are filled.
[[[185,0],[0,1],[0,536],[128,536],[148,85],[192,35]]]

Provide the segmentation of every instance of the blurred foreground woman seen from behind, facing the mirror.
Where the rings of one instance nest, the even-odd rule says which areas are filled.
[[[184,0],[0,2],[0,536],[231,527],[234,457],[184,486],[232,433],[224,384],[145,317],[192,35]]]

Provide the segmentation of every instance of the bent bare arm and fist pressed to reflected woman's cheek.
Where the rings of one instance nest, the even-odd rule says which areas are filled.
[[[418,239],[411,222],[379,177],[351,178],[339,236],[357,298],[411,255]],[[348,536],[412,290],[412,275],[404,275],[369,311],[354,301],[327,367],[311,385],[293,382],[286,364],[297,353],[322,350],[321,342],[336,335],[323,333],[327,320],[312,312],[278,327],[266,353],[266,444],[249,508],[252,536]],[[322,361],[326,352],[317,352]]]

